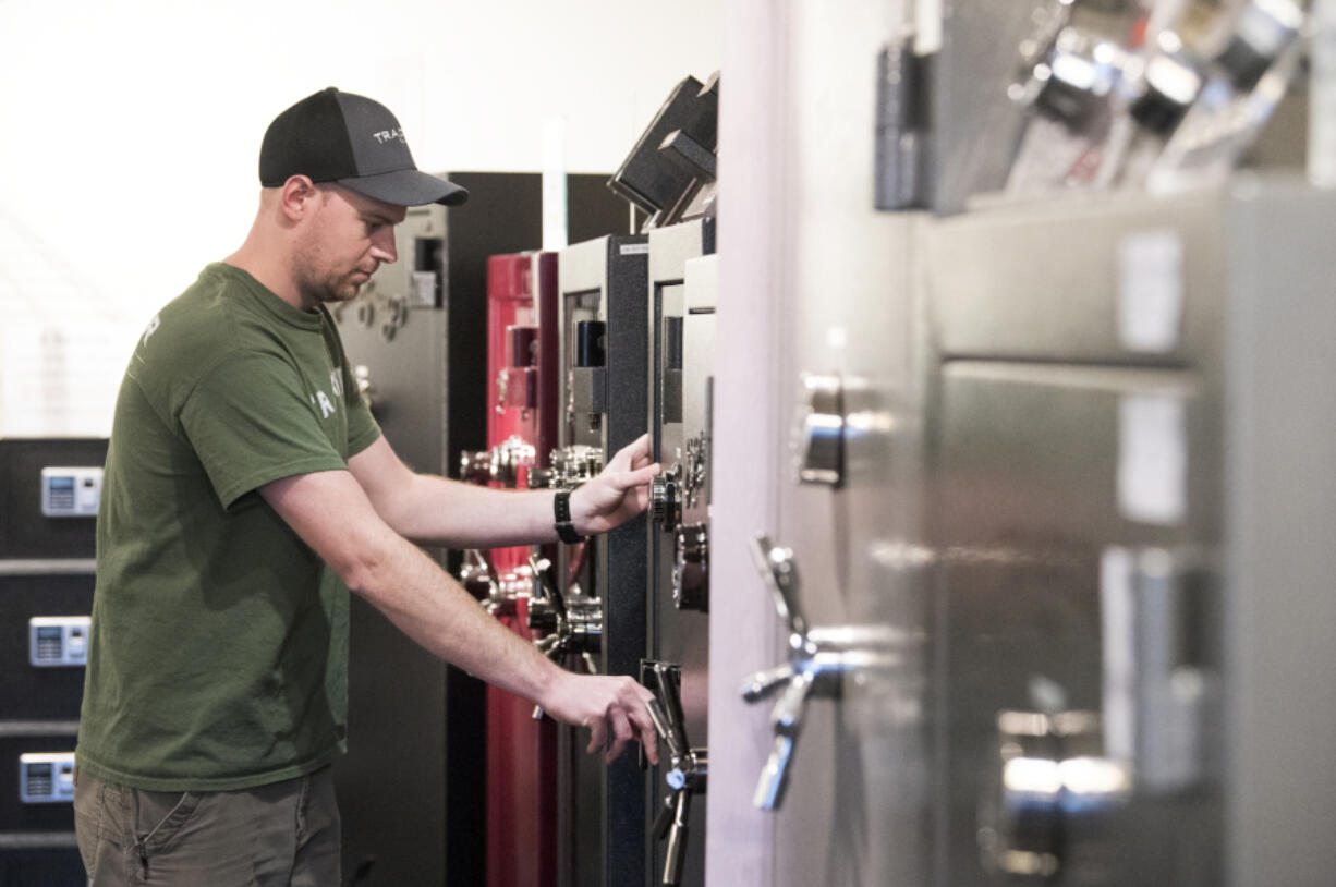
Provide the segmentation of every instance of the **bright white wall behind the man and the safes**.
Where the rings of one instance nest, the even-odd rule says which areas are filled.
[[[142,326],[240,243],[293,102],[383,102],[425,170],[540,170],[564,118],[566,167],[611,171],[673,84],[719,68],[721,5],[0,0],[0,434],[35,335]]]

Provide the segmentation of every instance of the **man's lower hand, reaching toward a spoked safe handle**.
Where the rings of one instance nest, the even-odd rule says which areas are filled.
[[[651,764],[659,763],[659,735],[649,717],[653,693],[625,676],[561,672],[544,697],[536,700],[557,720],[589,728],[589,753],[605,748],[613,760],[627,743],[639,739]]]

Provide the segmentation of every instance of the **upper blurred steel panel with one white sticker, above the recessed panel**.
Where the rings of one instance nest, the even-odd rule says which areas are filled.
[[[1186,366],[1218,341],[1218,192],[1090,195],[933,227],[933,335],[947,357]]]

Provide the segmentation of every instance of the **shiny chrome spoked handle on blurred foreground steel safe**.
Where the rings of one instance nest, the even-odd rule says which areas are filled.
[[[788,767],[803,729],[807,700],[812,696],[838,699],[844,679],[866,679],[895,669],[900,664],[903,641],[886,625],[810,627],[799,606],[794,553],[758,536],[752,556],[774,596],[779,618],[788,628],[788,661],[758,672],[741,689],[748,703],[780,693],[770,716],[775,743],[752,797],[760,810],[776,810],[788,787]]]

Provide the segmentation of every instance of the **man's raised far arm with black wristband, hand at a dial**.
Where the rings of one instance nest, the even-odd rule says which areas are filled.
[[[417,474],[383,437],[347,466],[385,522],[417,542],[500,548],[557,538],[552,490],[496,490]],[[599,477],[572,493],[576,532],[604,533],[643,512],[649,501],[647,485],[657,473],[659,465],[649,462],[648,435],[624,448]]]

